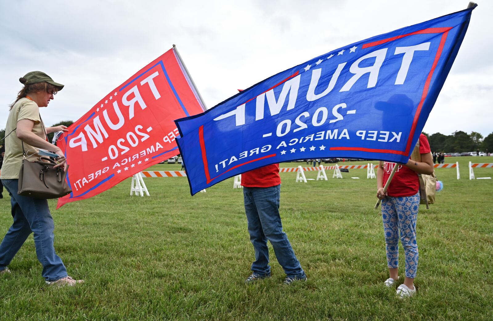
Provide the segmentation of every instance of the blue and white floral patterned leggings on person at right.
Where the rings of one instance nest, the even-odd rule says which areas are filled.
[[[416,278],[418,270],[418,244],[416,243],[416,218],[420,209],[420,193],[413,196],[386,197],[382,200],[387,265],[399,266],[399,232],[406,257],[406,278]]]

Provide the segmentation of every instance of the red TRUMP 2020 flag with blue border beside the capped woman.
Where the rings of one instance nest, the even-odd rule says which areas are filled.
[[[70,165],[68,202],[97,195],[179,153],[174,120],[204,111],[176,50],[142,68],[69,127],[57,145]]]

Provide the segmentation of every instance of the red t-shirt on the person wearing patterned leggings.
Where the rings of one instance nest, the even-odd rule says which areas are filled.
[[[420,154],[429,153],[430,145],[426,136],[421,134],[420,136]],[[395,163],[384,162],[384,186],[387,183],[387,179],[392,172]],[[388,185],[387,193],[388,196],[392,197],[403,197],[403,196],[413,196],[420,191],[420,180],[418,174],[409,169],[404,165],[398,164],[397,171],[394,177]]]

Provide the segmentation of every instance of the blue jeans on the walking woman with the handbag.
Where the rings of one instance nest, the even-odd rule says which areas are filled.
[[[0,270],[10,264],[28,236],[34,232],[36,256],[43,265],[42,276],[46,281],[66,277],[67,269],[53,247],[55,225],[48,201],[17,194],[19,179],[1,181],[10,195],[14,222],[0,244]]]

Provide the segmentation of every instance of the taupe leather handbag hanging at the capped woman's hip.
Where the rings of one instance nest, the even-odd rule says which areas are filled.
[[[67,184],[67,172],[60,167],[54,168],[55,165],[56,162],[48,157],[40,157],[34,162],[23,159],[17,194],[41,199],[70,194],[72,190]],[[69,165],[66,165],[68,168]]]

